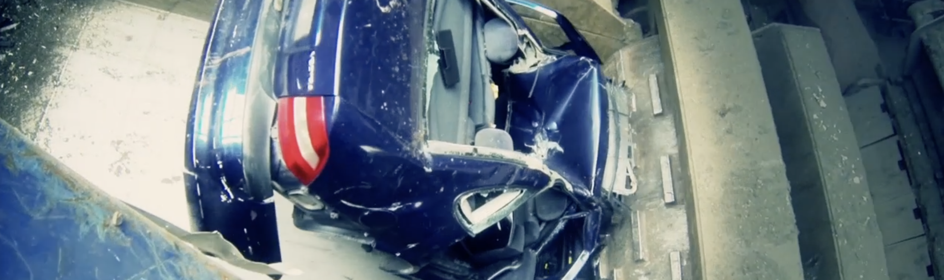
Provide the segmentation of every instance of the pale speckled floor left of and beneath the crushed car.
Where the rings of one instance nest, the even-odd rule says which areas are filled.
[[[0,119],[99,188],[189,228],[183,133],[214,0],[0,4]],[[399,279],[358,244],[295,229],[277,201],[283,279]],[[257,275],[261,276],[261,275]],[[267,277],[261,276],[261,279]]]

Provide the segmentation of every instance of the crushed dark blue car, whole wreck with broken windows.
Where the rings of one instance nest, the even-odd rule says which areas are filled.
[[[598,279],[622,174],[611,85],[525,0],[222,0],[187,131],[194,228],[278,262],[278,193],[298,228],[406,278]]]

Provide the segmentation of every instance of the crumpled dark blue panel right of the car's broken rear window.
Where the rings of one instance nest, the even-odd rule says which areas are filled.
[[[609,135],[604,77],[597,61],[565,56],[524,74],[510,75],[513,92],[508,131],[515,150],[534,152],[537,140],[560,145],[546,159],[578,194],[598,196]]]

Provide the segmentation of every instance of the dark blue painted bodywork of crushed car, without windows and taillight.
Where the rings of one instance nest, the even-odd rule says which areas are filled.
[[[436,69],[429,62],[437,50],[429,1],[319,0],[313,10],[302,2],[219,4],[186,140],[195,229],[221,232],[249,259],[279,262],[273,203],[279,192],[306,205],[300,213],[346,221],[332,227],[335,233],[418,268],[484,230],[462,222],[457,205],[464,195],[514,186],[521,194],[510,207],[553,189],[571,203],[528,250],[539,254],[567,221],[581,220],[575,239],[581,252],[568,261],[572,268],[541,278],[573,279],[593,263],[588,259],[598,253],[609,219],[603,186],[614,176],[604,170],[615,121],[599,58],[563,17],[557,20],[569,51],[540,45],[512,5],[549,16],[552,10],[480,1],[526,30],[520,35],[541,58],[501,77],[502,98],[510,102],[501,105],[507,117],[496,129],[514,140],[512,151],[430,136],[429,76]],[[322,155],[327,162],[316,179],[300,184],[282,161],[278,102],[314,97],[324,107],[330,154]],[[324,225],[314,227],[330,227]]]

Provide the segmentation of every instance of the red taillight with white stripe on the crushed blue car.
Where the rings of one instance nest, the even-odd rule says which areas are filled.
[[[278,99],[278,146],[282,160],[302,184],[310,185],[328,163],[328,124],[324,98]]]

